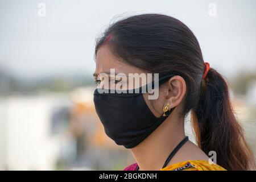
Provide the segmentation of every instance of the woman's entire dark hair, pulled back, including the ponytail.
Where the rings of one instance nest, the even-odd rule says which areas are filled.
[[[226,81],[213,68],[202,79],[205,65],[199,42],[184,23],[162,14],[134,15],[106,29],[96,40],[95,55],[102,44],[146,72],[183,77],[187,93],[182,114],[191,111],[201,150],[216,151],[217,164],[228,170],[254,167],[254,155],[232,111]]]

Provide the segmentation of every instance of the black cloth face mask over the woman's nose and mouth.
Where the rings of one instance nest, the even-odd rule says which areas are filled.
[[[172,76],[160,78],[159,85],[170,77]],[[154,88],[154,82],[151,84]],[[175,109],[174,107],[168,110],[165,117],[163,115],[159,118],[155,117],[144,100],[143,87],[139,88],[139,93],[135,92],[135,89],[132,92],[127,90],[126,93],[117,93],[116,90],[112,93],[113,90],[110,92],[106,89],[94,91],[94,105],[105,133],[115,143],[126,148],[133,148],[141,143]],[[102,93],[102,91],[107,93]]]

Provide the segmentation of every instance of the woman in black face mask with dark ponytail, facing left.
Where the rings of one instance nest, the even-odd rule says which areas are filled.
[[[97,114],[106,134],[130,148],[137,162],[125,170],[254,167],[254,156],[232,111],[228,85],[204,63],[199,43],[185,24],[161,14],[119,20],[97,39],[95,55],[94,77],[101,85],[94,92]],[[107,78],[110,69],[124,75],[159,73],[158,97],[149,99],[149,90],[142,93],[143,84],[138,93],[102,93],[113,90],[102,86],[103,81],[115,86],[125,82],[125,78]],[[121,90],[130,90],[122,84]],[[197,145],[184,134],[189,111]],[[209,160],[212,154],[216,164]]]

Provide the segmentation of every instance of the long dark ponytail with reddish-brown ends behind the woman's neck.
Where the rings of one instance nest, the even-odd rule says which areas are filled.
[[[197,144],[206,154],[215,151],[217,164],[227,170],[255,167],[254,155],[233,113],[228,85],[213,68],[202,80],[197,108],[192,111]]]

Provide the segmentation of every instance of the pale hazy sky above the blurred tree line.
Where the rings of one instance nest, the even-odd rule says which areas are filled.
[[[39,3],[46,17],[38,16]],[[92,75],[95,38],[114,17],[162,13],[187,24],[204,59],[230,77],[256,68],[255,7],[255,0],[0,0],[0,67],[24,77]]]

